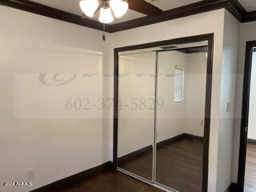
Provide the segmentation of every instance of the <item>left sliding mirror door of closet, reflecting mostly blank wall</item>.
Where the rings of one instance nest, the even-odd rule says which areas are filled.
[[[118,168],[152,181],[156,54],[118,56]]]

